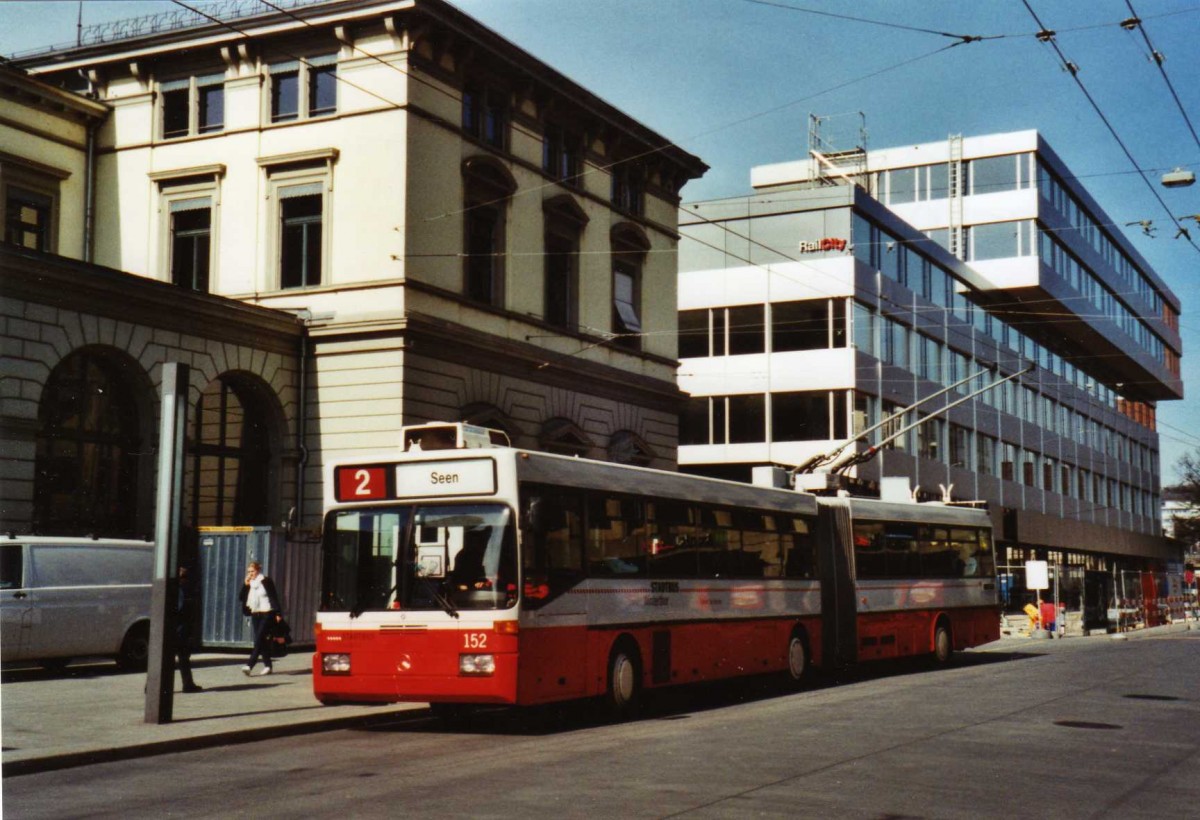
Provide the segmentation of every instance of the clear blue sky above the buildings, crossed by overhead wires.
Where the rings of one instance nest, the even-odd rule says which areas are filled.
[[[191,0],[187,0],[191,5]],[[1120,23],[1130,4],[1141,30]],[[197,4],[203,7],[203,4]],[[800,158],[809,114],[863,112],[884,148],[1037,128],[1183,300],[1190,397],[1159,405],[1164,481],[1200,447],[1200,251],[1175,226],[1062,67],[1024,0],[455,0],[568,77],[703,158],[686,199],[745,193],[750,168]],[[1028,0],[1176,217],[1200,214],[1200,0]],[[166,0],[83,4],[85,25],[169,11]],[[71,42],[79,5],[0,2],[0,54]],[[860,18],[860,19],[847,19]],[[872,22],[868,22],[872,20]],[[913,29],[926,29],[919,31]],[[1142,37],[1165,56],[1176,104]],[[944,32],[944,34],[938,34]],[[947,35],[996,37],[962,42]],[[954,44],[958,43],[958,44]],[[1128,222],[1152,220],[1146,237]],[[1192,220],[1200,246],[1200,221]]]

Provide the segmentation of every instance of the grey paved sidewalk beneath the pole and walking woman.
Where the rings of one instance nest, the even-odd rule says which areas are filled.
[[[311,659],[310,652],[295,652],[275,662],[274,675],[246,677],[245,653],[196,654],[192,668],[204,692],[182,694],[176,674],[167,724],[145,723],[145,675],[119,672],[110,662],[70,666],[61,675],[6,670],[2,776],[366,725],[425,708],[322,706],[312,696]]]

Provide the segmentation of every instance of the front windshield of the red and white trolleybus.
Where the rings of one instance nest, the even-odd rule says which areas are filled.
[[[516,535],[500,504],[396,504],[331,513],[322,609],[490,610],[517,600]]]

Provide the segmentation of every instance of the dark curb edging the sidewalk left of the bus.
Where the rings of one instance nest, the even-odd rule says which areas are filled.
[[[269,741],[277,737],[289,737],[294,735],[314,735],[323,731],[337,731],[341,729],[366,729],[388,723],[396,723],[408,712],[426,712],[424,704],[409,704],[401,708],[392,708],[382,714],[355,714],[352,717],[334,717],[306,723],[293,723],[278,726],[257,726],[251,729],[233,729],[229,731],[212,732],[209,735],[196,735],[192,737],[173,737],[164,741],[149,741],[106,749],[89,749],[85,752],[65,752],[61,754],[48,754],[40,758],[28,758],[25,760],[5,761],[2,766],[4,778],[22,777],[24,774],[38,774],[41,772],[53,772],[62,768],[74,768],[76,766],[91,766],[95,764],[108,764],[121,760],[136,760],[138,758],[151,758],[160,754],[172,754],[175,752],[194,752],[216,746],[236,746],[240,743],[253,743],[256,741]],[[409,719],[421,719],[425,716],[413,716]]]

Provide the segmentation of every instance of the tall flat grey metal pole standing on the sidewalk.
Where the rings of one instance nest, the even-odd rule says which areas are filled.
[[[150,595],[150,659],[146,666],[145,722],[170,723],[175,692],[175,595],[184,493],[184,433],[187,425],[190,369],[162,366],[162,418],[158,425],[158,485],[155,509],[154,586]]]

